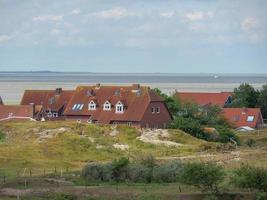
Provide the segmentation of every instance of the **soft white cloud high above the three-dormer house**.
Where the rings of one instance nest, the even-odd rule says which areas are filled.
[[[133,16],[134,14],[130,13],[125,8],[115,7],[109,10],[95,12],[92,15],[101,19],[120,19],[123,17]]]

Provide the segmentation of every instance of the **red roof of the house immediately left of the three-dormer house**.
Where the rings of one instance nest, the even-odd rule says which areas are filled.
[[[21,105],[42,105],[45,110],[59,111],[62,107],[66,106],[74,91],[61,90],[25,90]]]

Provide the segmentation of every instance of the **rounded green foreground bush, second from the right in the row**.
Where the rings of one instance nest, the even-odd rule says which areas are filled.
[[[182,169],[180,181],[203,192],[218,193],[223,178],[224,171],[220,166],[213,163],[188,163]]]

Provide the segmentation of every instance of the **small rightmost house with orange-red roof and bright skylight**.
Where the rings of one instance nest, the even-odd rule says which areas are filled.
[[[222,115],[235,128],[262,128],[264,125],[259,108],[224,108]]]

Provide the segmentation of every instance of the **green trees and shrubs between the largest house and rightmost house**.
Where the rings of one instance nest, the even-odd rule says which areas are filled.
[[[222,117],[220,107],[211,105],[202,108],[193,102],[181,103],[175,93],[166,95],[159,89],[154,91],[164,98],[173,116],[169,124],[170,129],[180,129],[207,141],[227,143],[233,139],[238,143],[231,126]],[[214,128],[214,131],[207,131],[206,128]]]

